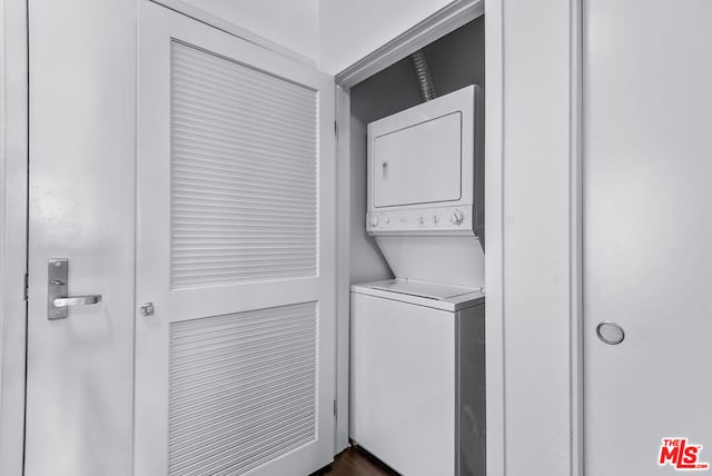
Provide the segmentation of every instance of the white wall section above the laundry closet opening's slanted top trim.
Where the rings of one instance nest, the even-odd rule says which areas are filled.
[[[320,69],[336,75],[457,0],[319,0]]]

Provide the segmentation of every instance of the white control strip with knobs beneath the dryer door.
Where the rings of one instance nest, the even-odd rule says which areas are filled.
[[[472,230],[472,207],[412,208],[366,214],[366,231],[370,235]]]

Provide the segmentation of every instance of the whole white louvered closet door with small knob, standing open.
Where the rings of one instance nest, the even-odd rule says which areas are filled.
[[[136,474],[332,460],[334,82],[146,2]]]

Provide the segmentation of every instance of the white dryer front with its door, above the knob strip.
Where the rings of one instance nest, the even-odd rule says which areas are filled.
[[[468,86],[368,125],[368,211],[473,202],[477,91]]]

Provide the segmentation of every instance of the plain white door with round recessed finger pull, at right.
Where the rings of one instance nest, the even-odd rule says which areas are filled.
[[[712,2],[584,4],[586,475],[710,474]]]

